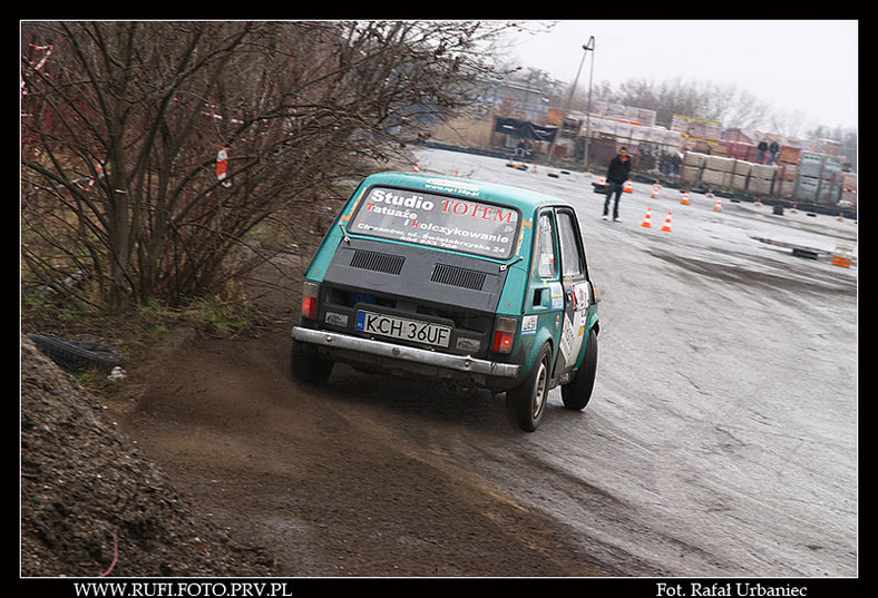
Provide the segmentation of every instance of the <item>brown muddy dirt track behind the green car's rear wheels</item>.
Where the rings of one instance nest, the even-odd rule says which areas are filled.
[[[284,332],[181,342],[120,420],[208,517],[265,547],[277,575],[648,572],[601,562],[556,521],[382,422],[423,400],[439,430],[462,412],[489,434],[520,434],[497,399],[341,367],[328,389],[302,390]]]

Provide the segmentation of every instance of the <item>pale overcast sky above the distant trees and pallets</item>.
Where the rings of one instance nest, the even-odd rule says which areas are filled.
[[[549,33],[523,37],[513,60],[573,82],[582,47],[594,36],[595,84],[677,77],[733,84],[772,111],[853,128],[858,29],[856,20],[564,20]],[[581,88],[588,85],[591,60],[583,63]]]

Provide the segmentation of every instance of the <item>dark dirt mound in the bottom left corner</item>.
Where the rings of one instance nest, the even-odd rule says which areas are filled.
[[[22,340],[22,577],[269,572],[261,549],[197,518],[97,400]]]

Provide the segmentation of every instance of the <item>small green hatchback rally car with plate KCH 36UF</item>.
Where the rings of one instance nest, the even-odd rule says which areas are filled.
[[[556,385],[568,409],[591,399],[598,301],[568,203],[464,178],[375,174],[305,273],[292,372],[322,383],[344,362],[489,389],[534,431]]]

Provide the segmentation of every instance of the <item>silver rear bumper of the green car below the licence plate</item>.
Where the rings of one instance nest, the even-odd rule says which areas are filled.
[[[499,363],[469,355],[450,355],[412,346],[404,346],[372,339],[361,339],[336,332],[318,331],[295,326],[292,331],[294,341],[316,345],[332,351],[370,355],[382,360],[391,360],[420,366],[437,367],[449,372],[471,375],[514,379],[518,376],[520,366],[513,363]]]

